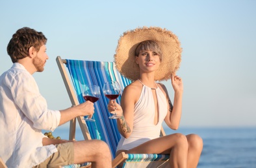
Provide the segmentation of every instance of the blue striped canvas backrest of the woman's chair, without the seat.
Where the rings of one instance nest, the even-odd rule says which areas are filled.
[[[107,142],[111,148],[112,157],[115,157],[116,147],[120,140],[120,133],[116,127],[116,120],[109,119],[111,115],[107,109],[109,99],[103,94],[103,85],[106,81],[118,81],[122,90],[131,83],[124,78],[113,62],[102,61],[81,61],[66,59],[66,67],[68,68],[73,82],[79,103],[84,102],[82,95],[83,85],[99,85],[101,96],[94,103],[94,118],[96,122],[86,121],[90,136],[92,139],[103,140]],[[122,92],[121,92],[122,95]],[[120,103],[120,98],[116,100]]]

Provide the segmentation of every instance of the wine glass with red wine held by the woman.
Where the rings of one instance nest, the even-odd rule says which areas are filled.
[[[118,96],[120,95],[120,92],[121,92],[121,87],[118,81],[107,81],[104,84],[103,93],[107,98],[109,98],[109,100],[115,101],[116,98],[118,98]],[[114,114],[112,116],[109,116],[109,118],[116,119],[119,117],[116,116],[116,114]]]

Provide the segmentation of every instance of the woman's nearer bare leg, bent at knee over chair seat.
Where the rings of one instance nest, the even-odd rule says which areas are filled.
[[[126,153],[158,153],[170,154],[171,167],[186,167],[188,141],[183,134],[175,133],[150,140]]]

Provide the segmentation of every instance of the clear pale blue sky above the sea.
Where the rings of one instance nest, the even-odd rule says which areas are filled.
[[[49,59],[33,74],[49,109],[71,106],[56,58],[113,61],[123,32],[159,26],[179,37],[180,127],[256,127],[256,1],[0,1],[0,74],[23,26],[47,37]],[[162,82],[173,100],[170,80]]]

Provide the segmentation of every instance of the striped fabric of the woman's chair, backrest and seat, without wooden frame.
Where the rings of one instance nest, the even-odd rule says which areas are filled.
[[[101,96],[94,103],[93,115],[96,121],[86,121],[86,125],[92,139],[103,140],[109,145],[112,159],[114,159],[116,157],[116,147],[120,140],[120,132],[116,120],[109,119],[111,115],[107,110],[109,100],[103,94],[103,85],[106,81],[118,81],[123,90],[131,81],[116,70],[113,62],[66,59],[66,67],[70,72],[70,78],[79,103],[84,102],[83,85],[99,85]],[[121,96],[116,99],[117,103],[120,103],[120,100]],[[126,162],[123,167],[163,167],[166,163],[170,167],[168,163],[169,154],[125,154],[125,158]]]

